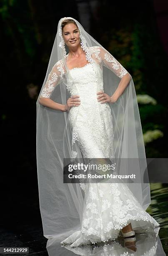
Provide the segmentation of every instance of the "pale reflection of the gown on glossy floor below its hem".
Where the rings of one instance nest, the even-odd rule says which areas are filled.
[[[60,239],[49,239],[47,244],[49,256],[96,255],[96,256],[166,256],[159,236],[155,233],[140,233],[135,235],[136,241],[125,243],[125,239],[118,237],[115,241],[60,248]]]

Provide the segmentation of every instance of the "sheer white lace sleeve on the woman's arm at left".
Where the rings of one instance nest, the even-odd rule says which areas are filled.
[[[65,74],[63,61],[60,60],[53,66],[50,74],[48,75],[47,82],[43,87],[40,98],[50,98],[55,87],[60,83],[61,79],[63,79],[63,75]]]

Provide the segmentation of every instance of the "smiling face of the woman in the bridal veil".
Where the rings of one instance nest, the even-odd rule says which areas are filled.
[[[69,23],[63,28],[63,38],[68,47],[75,47],[80,44],[79,31],[74,23]]]

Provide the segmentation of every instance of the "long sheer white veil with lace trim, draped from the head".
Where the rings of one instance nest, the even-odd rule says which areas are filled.
[[[65,45],[61,28],[62,21],[66,19],[74,20],[77,24],[81,48],[88,63],[97,61],[101,64],[102,91],[112,96],[120,79],[126,73],[124,67],[90,36],[77,20],[71,17],[60,19],[47,73],[37,100],[38,188],[43,233],[46,238],[77,230],[81,224],[85,205],[85,184],[63,183],[63,159],[82,158],[78,141],[70,127],[69,112],[53,110],[39,102],[40,96],[43,96],[66,105],[68,98],[73,95],[73,85],[67,79],[68,47]],[[114,131],[113,156],[116,159],[139,160],[136,170],[129,168],[129,161],[127,165],[121,164],[120,173],[136,173],[140,178],[139,183],[133,182],[127,185],[146,210],[150,205],[150,186],[148,182],[144,182],[147,164],[132,77],[123,94],[115,103],[110,104],[110,108]]]

